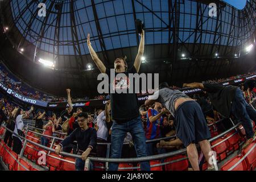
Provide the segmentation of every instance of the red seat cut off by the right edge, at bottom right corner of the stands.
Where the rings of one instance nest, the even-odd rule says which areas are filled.
[[[255,142],[251,143],[248,147],[242,150],[242,155],[245,156],[246,154],[248,154],[245,158],[247,166],[253,171],[256,168],[256,143]]]

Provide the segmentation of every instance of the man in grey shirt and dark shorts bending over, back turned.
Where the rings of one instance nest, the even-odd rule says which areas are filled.
[[[159,85],[152,96],[148,97],[145,105],[152,105],[154,102],[160,102],[175,118],[174,125],[177,138],[179,138],[187,148],[188,159],[194,171],[199,171],[198,153],[195,143],[200,144],[208,162],[208,169],[217,170],[217,166],[211,164],[214,156],[208,139],[210,131],[205,121],[203,111],[196,101],[189,98],[179,90],[172,89],[166,82]]]

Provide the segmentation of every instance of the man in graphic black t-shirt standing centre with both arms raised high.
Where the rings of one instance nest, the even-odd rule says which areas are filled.
[[[94,63],[100,69],[101,73],[106,73],[110,78],[110,69],[106,69],[105,65],[98,58],[90,43],[90,34],[87,37],[87,45],[90,51],[90,55]],[[114,76],[112,81],[109,79],[110,90],[122,90],[122,93],[110,94],[111,114],[113,120],[112,130],[112,145],[111,145],[111,158],[121,158],[123,140],[127,132],[130,132],[135,144],[135,150],[137,151],[137,157],[147,156],[146,153],[146,137],[144,134],[141,117],[139,115],[139,106],[137,94],[128,93],[130,88],[129,73],[138,73],[141,66],[141,58],[144,53],[144,31],[141,34],[141,42],[139,44],[139,50],[137,57],[134,61],[132,68],[127,69],[126,56],[118,57],[114,61]],[[122,77],[118,77],[122,73]],[[123,76],[125,75],[125,76]],[[117,171],[118,163],[109,163],[110,171]],[[141,169],[143,171],[150,170],[149,162],[141,162]]]

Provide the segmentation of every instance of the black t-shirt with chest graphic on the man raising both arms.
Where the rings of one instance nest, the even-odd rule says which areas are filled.
[[[123,74],[125,78],[113,78],[111,80],[110,69],[106,69],[106,74],[109,76],[109,89],[110,89],[110,102],[111,102],[111,114],[112,119],[116,122],[126,122],[133,118],[139,117],[139,105],[137,94],[129,93],[130,80],[129,73],[137,73],[135,67],[129,69]],[[118,73],[115,73],[115,76]],[[114,76],[113,76],[114,77]],[[135,83],[135,81],[133,81]],[[133,85],[135,88],[135,84]],[[116,90],[126,90],[126,93],[117,93]],[[115,93],[111,93],[115,91]]]

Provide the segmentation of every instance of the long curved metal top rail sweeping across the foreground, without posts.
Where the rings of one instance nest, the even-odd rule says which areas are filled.
[[[212,139],[210,139],[209,142],[222,137],[223,135],[225,135],[225,134],[229,133],[230,131],[236,129],[239,125],[240,125],[240,123],[237,123],[237,125],[233,126],[229,130],[226,130],[224,133],[222,133],[220,135],[217,135],[216,137],[213,137]],[[3,127],[5,127],[5,129],[7,129],[6,126],[3,126]],[[17,137],[22,138],[24,140],[27,140],[28,143],[32,143],[35,146],[43,148],[44,150],[55,152],[55,150],[53,148],[42,146],[41,144],[35,143],[31,140],[28,140],[27,138],[19,136],[18,134],[14,133],[10,129],[7,129],[7,130],[9,130],[11,133],[16,135]],[[150,160],[158,160],[158,159],[168,158],[168,157],[171,157],[171,156],[174,156],[174,155],[183,154],[186,151],[187,151],[187,149],[183,148],[181,150],[177,150],[177,151],[174,151],[174,152],[168,152],[166,154],[158,154],[158,155],[146,156],[146,157],[140,157],[140,158],[123,158],[123,159],[115,159],[115,158],[110,159],[109,158],[109,159],[106,159],[106,158],[88,157],[88,159],[92,160],[92,161],[96,161],[96,162],[111,162],[111,163],[124,163],[124,162],[129,163],[130,162],[130,163],[133,163],[133,162],[145,162],[145,161],[150,161]],[[71,158],[81,158],[81,155],[69,154],[67,152],[60,152],[60,154],[63,155],[63,156],[69,156]]]

